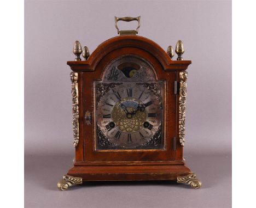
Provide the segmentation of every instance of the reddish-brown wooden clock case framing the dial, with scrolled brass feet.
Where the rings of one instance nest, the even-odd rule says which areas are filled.
[[[154,66],[157,79],[166,82],[164,150],[95,150],[93,82],[101,79],[104,66],[125,54],[148,60]],[[72,70],[74,88],[75,160],[73,168],[58,183],[60,189],[65,190],[83,181],[175,180],[194,188],[201,186],[201,182],[184,164],[180,142],[180,131],[184,127],[181,126],[181,113],[184,112],[180,109],[182,95],[179,83],[181,72],[187,70],[190,60],[172,60],[158,44],[142,36],[120,35],[104,41],[88,60],[69,61],[67,64]]]

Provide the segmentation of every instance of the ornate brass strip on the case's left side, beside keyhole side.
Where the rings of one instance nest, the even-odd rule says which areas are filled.
[[[71,93],[72,93],[72,113],[73,113],[73,145],[76,147],[79,142],[79,109],[78,109],[78,73],[71,72]]]

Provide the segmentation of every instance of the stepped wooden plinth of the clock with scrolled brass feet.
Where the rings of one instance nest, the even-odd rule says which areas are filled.
[[[173,161],[173,163],[175,163]],[[66,177],[66,178],[65,178]],[[75,165],[58,183],[61,190],[82,181],[149,181],[173,180],[200,188],[201,182],[184,164],[96,164]]]

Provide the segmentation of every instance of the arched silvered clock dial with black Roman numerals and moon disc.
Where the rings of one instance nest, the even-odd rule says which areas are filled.
[[[153,66],[126,55],[107,65],[94,82],[95,150],[163,150],[165,81]]]

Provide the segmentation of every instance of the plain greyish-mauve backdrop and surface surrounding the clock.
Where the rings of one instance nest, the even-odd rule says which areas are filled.
[[[74,59],[73,43],[79,40],[92,52],[117,35],[114,16],[138,15],[139,35],[165,50],[181,39],[184,59],[193,62],[184,156],[204,186],[194,191],[166,182],[97,183],[58,192],[56,182],[74,155],[66,65]],[[231,207],[231,1],[25,1],[25,207],[170,203]]]

